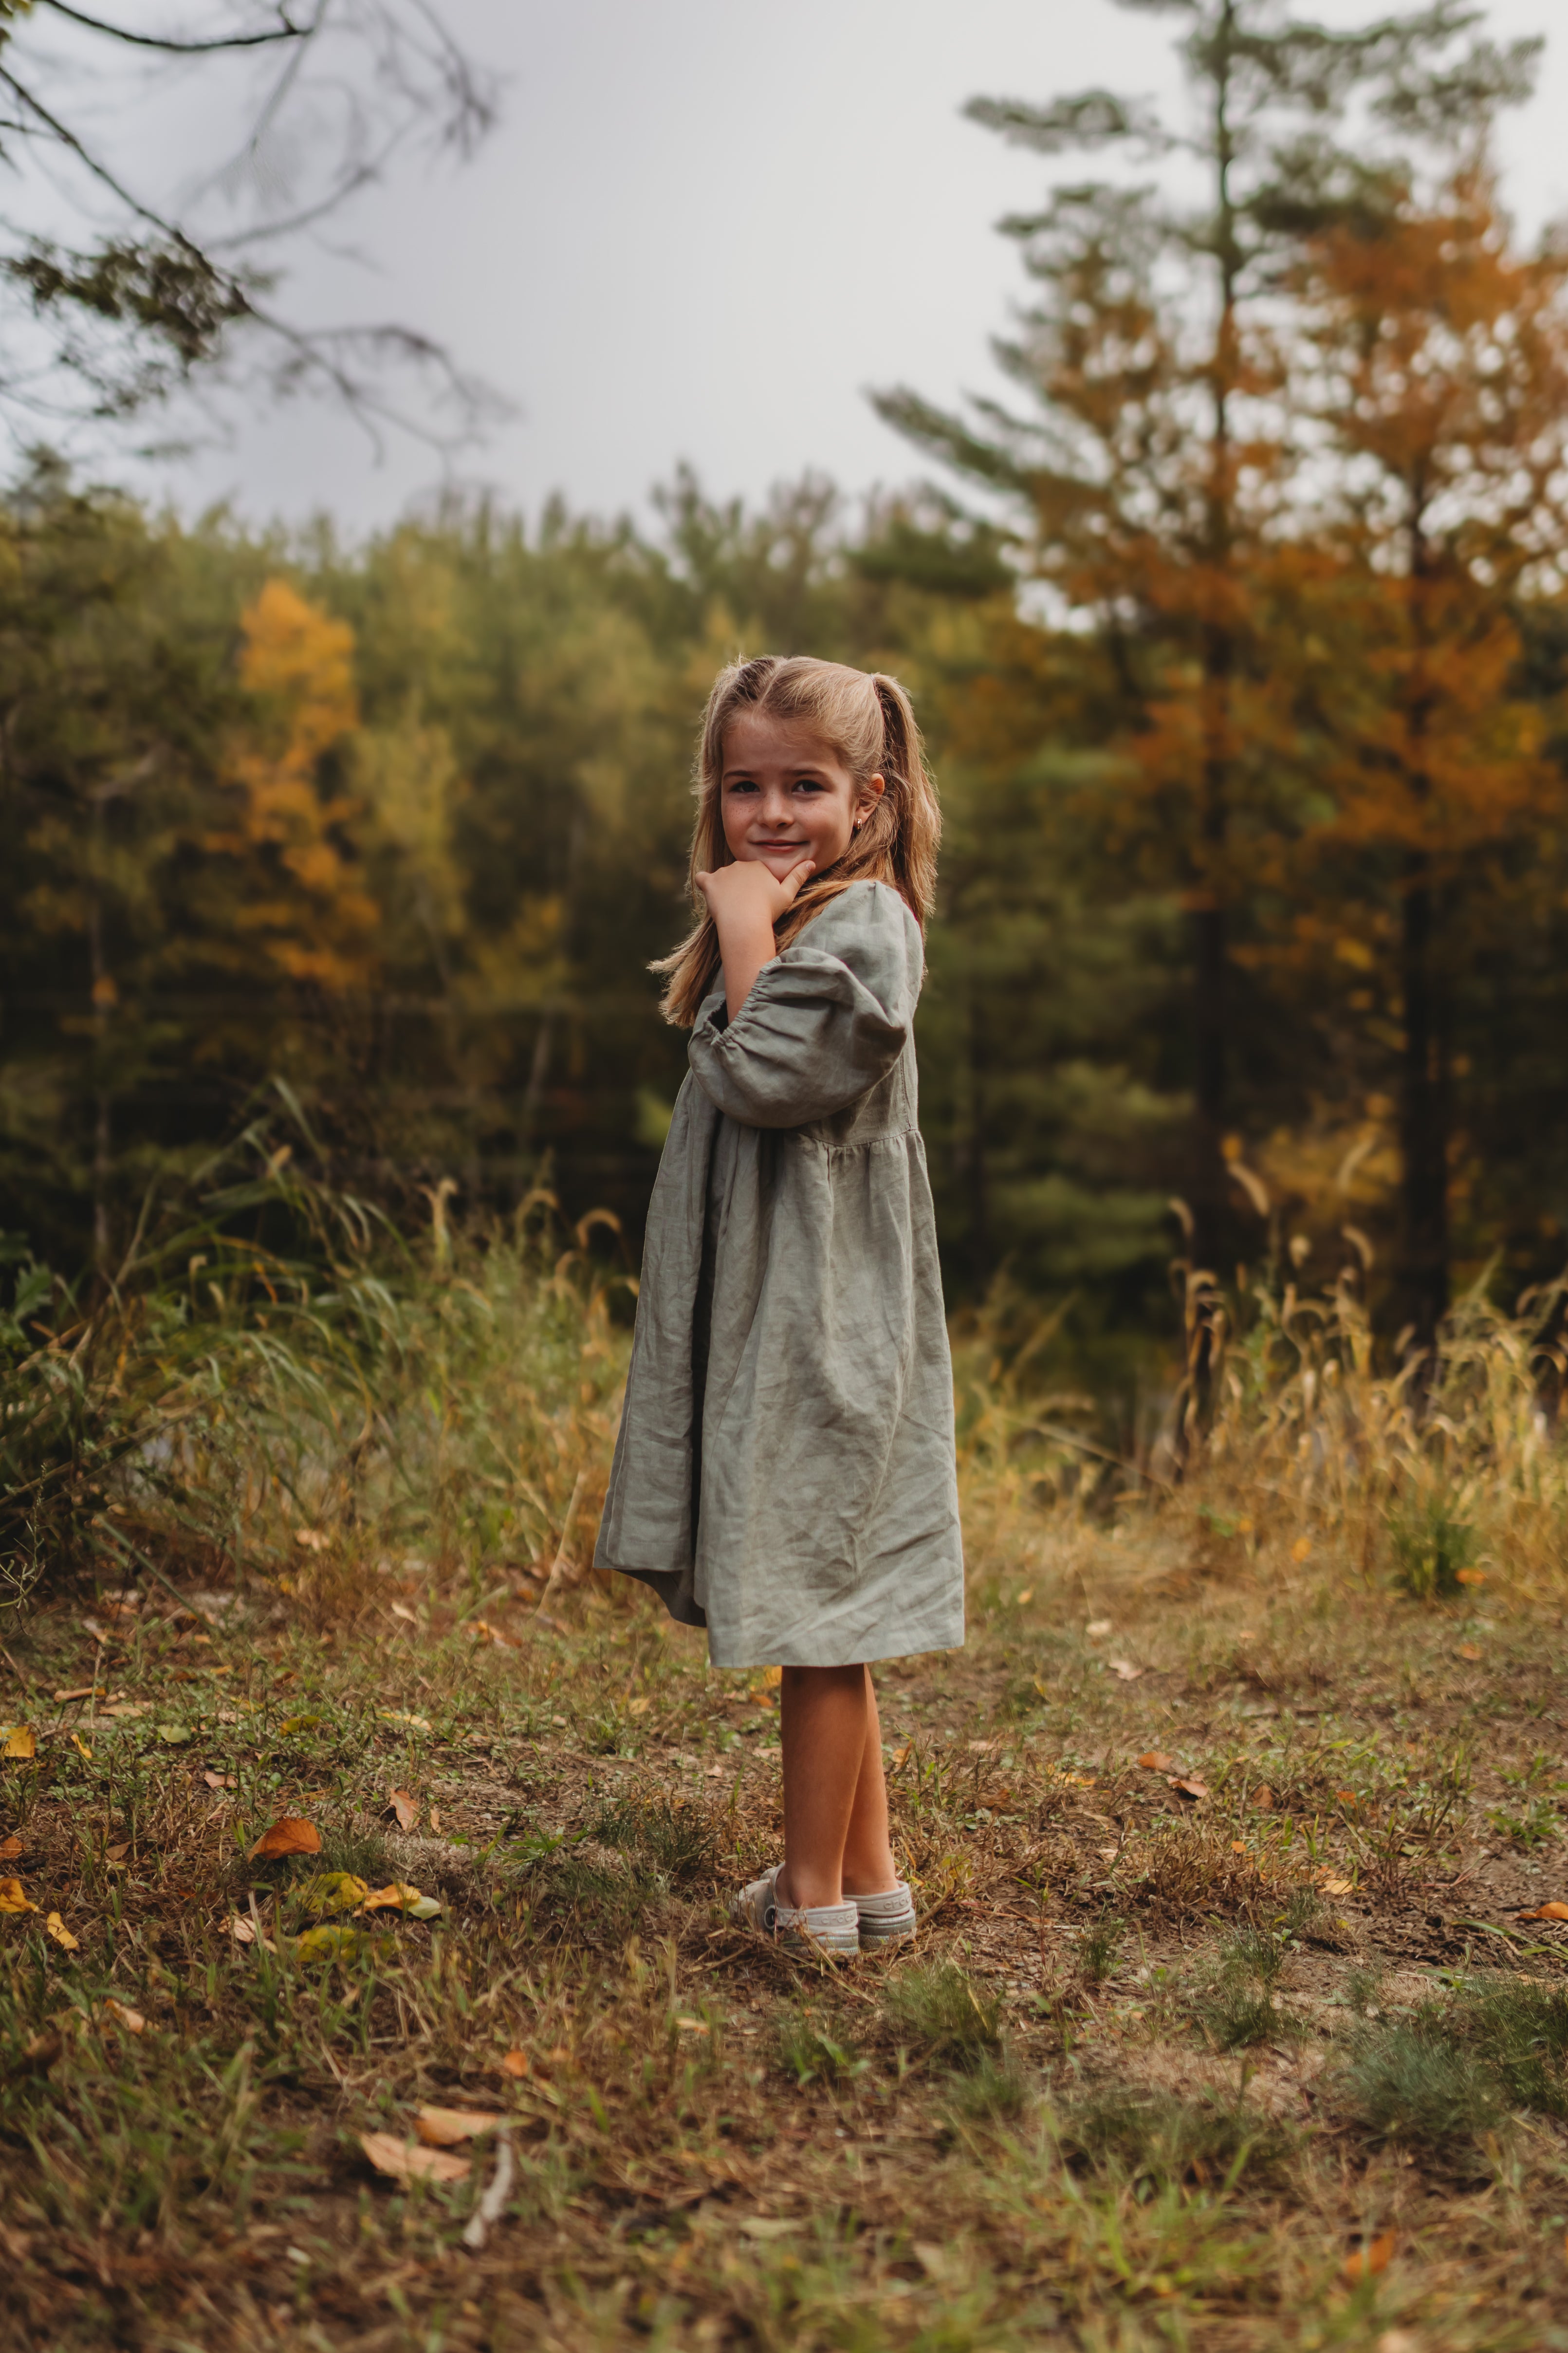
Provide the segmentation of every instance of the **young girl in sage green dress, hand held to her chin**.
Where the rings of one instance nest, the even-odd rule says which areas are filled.
[[[739,1911],[796,1953],[913,1937],[869,1661],[963,1642],[954,1384],[916,1122],[939,814],[904,689],[720,673],[697,753],[690,1026],[596,1565],[716,1666],[784,1666],[784,1861]]]

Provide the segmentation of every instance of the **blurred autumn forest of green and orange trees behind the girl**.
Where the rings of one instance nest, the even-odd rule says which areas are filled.
[[[1102,534],[1099,605],[1043,471],[1034,541],[937,492],[850,508],[805,480],[758,513],[678,475],[650,532],[454,499],[344,546],[181,527],[38,461],[0,513],[5,1231],[113,1278],[160,1172],[283,1082],[334,1179],[398,1217],[443,1181],[485,1214],[544,1179],[636,1257],[683,1075],[645,967],[685,925],[697,713],[737,649],[810,649],[909,682],[942,786],[921,1082],[956,1306],[1062,1304],[1107,1388],[1175,1339],[1215,894],[1224,1280],[1349,1261],[1377,1304],[1413,1085],[1441,1092],[1448,1280],[1559,1273],[1566,266],[1509,254],[1483,181],[1443,202],[1311,256],[1318,407],[1295,456],[1283,428],[1253,452],[1222,574],[1182,572],[1154,506],[1142,541]],[[1090,294],[1109,336],[1116,287]],[[1398,381],[1366,374],[1377,336]],[[1264,391],[1288,419],[1285,372]],[[1415,536],[1410,452],[1436,468]],[[1142,459],[1205,513],[1201,447],[1187,475],[1180,447]],[[1132,480],[1123,525],[1135,506]],[[1229,798],[1203,864],[1217,621]],[[1436,1012],[1413,1073],[1417,885]]]

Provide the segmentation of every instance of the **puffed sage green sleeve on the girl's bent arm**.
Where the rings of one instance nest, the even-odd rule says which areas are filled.
[[[744,1127],[808,1127],[888,1078],[921,995],[921,927],[885,882],[852,882],[758,972],[725,1021],[709,998],[690,1042],[697,1085]]]

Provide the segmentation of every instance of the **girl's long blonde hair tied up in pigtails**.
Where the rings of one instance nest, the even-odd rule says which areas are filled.
[[[925,767],[925,748],[916,715],[897,678],[881,671],[852,671],[843,661],[812,661],[808,654],[758,654],[720,671],[702,713],[692,791],[697,824],[692,826],[690,889],[702,911],[680,946],[659,958],[664,998],[659,1012],[678,1028],[690,1028],[702,1000],[718,979],[718,927],[702,901],[697,875],[732,866],[723,824],[725,729],[737,711],[798,720],[843,760],[855,784],[883,779],[883,793],[850,847],[826,873],[812,875],[793,906],[775,925],[779,948],[800,936],[812,915],[850,882],[890,882],[921,929],[937,889],[937,840],[942,809]]]

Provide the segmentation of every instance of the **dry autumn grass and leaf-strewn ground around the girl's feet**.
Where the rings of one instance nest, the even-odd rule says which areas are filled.
[[[1460,1318],[1434,1435],[1349,1311],[1293,1308],[1295,1369],[1236,1344],[1142,1504],[961,1348],[972,1638],[878,1671],[921,1944],[824,1974],[727,1913],[779,1852],[777,1694],[584,1572],[603,1235],[379,1257],[268,1184],[299,1327],[238,1252],[226,1318],[148,1311],[132,1442],[78,1398],[71,1574],[0,1628],[7,2353],[1561,2339],[1568,1927],[1526,1915],[1568,1897],[1568,1482],[1528,1334]],[[1422,1480],[1479,1532],[1450,1598],[1398,1577]],[[252,1859],[280,1817],[320,1852]],[[327,1873],[426,1915],[323,1911]],[[426,2106],[506,2118],[480,2247],[494,2139],[454,2181],[367,2158]]]

